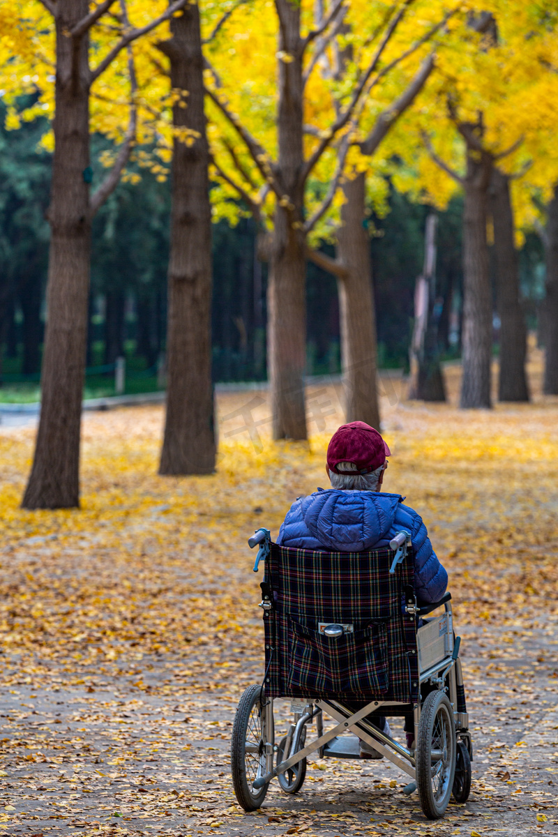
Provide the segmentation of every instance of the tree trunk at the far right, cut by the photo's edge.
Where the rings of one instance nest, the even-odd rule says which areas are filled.
[[[547,208],[545,298],[545,395],[558,395],[558,185]]]

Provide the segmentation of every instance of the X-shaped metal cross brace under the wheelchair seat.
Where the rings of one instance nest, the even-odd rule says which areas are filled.
[[[295,764],[301,762],[303,758],[309,756],[311,752],[318,750],[320,747],[324,747],[327,742],[330,742],[332,738],[337,737],[341,732],[356,732],[356,734],[361,737],[363,741],[371,744],[371,746],[375,747],[382,755],[387,756],[392,763],[397,764],[397,767],[401,768],[405,771],[405,773],[408,773],[408,775],[413,779],[415,778],[415,760],[411,753],[405,747],[402,747],[400,744],[393,741],[392,738],[385,735],[383,732],[380,732],[380,730],[374,727],[373,724],[363,720],[367,715],[370,715],[371,712],[377,710],[387,701],[371,701],[366,704],[366,706],[363,706],[362,709],[359,709],[359,711],[352,713],[351,710],[346,709],[346,707],[333,701],[317,700],[314,702],[317,707],[324,709],[328,715],[330,715],[335,721],[339,721],[339,723],[333,727],[333,729],[325,732],[324,735],[316,738],[315,741],[311,741],[306,744],[306,746],[303,747],[302,750],[296,752],[294,756],[284,759],[283,762],[276,765],[273,770],[269,771],[269,773],[257,778],[253,783],[254,790],[263,788],[264,785],[269,784],[269,782],[278,776],[279,773],[285,773],[285,771],[289,770],[289,768],[292,768]],[[389,702],[391,706],[394,706],[392,701]],[[402,704],[402,706],[406,706],[406,704]],[[393,750],[397,752],[393,752],[393,750],[388,749],[385,744],[392,747]]]

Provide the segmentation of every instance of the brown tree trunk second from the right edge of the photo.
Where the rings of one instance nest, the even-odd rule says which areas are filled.
[[[499,401],[529,401],[525,355],[527,329],[520,300],[520,271],[514,240],[509,177],[494,167],[490,186],[496,261],[496,302],[500,318]]]

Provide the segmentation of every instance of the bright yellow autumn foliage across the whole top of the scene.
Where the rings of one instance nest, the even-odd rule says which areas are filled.
[[[142,26],[165,11],[166,0],[128,0],[132,26]],[[344,27],[330,39],[319,59],[315,39],[306,49],[304,69],[303,137],[308,158],[325,137],[331,135],[336,117],[346,108],[355,90],[356,79],[370,63],[377,49],[377,33],[391,8],[387,0],[351,0],[346,4]],[[427,38],[427,34],[449,10],[446,25]],[[540,205],[549,198],[558,180],[558,146],[555,143],[555,102],[558,99],[558,27],[555,4],[551,0],[525,3],[524,0],[491,0],[483,10],[492,12],[498,27],[498,42],[474,32],[471,16],[478,4],[463,0],[457,7],[446,0],[415,0],[399,23],[381,62],[366,86],[361,104],[340,135],[334,138],[306,185],[305,215],[310,217],[328,193],[338,163],[343,136],[351,143],[363,140],[377,118],[407,88],[425,56],[436,51],[436,69],[412,109],[392,127],[371,159],[363,157],[353,144],[346,157],[346,177],[369,172],[375,211],[386,211],[387,188],[381,180],[390,176],[396,186],[417,200],[443,208],[457,184],[440,171],[428,157],[422,134],[432,138],[433,146],[458,173],[463,173],[463,142],[448,115],[448,96],[462,120],[484,114],[484,143],[498,154],[522,139],[520,146],[501,162],[505,171],[521,176],[513,183],[514,209],[520,226],[529,228],[540,220]],[[240,123],[264,148],[265,166],[277,158],[276,125],[277,80],[281,66],[293,63],[294,56],[279,46],[279,22],[272,0],[233,3],[207,0],[201,4],[202,35],[208,39],[207,57],[216,74],[206,70],[206,84],[228,103]],[[228,17],[223,18],[227,13]],[[301,36],[315,26],[315,3],[300,0]],[[221,25],[220,25],[221,24]],[[17,130],[21,121],[37,116],[54,116],[54,23],[39,0],[13,3],[0,0],[0,90],[8,105],[6,126]],[[164,178],[171,160],[173,139],[190,144],[192,132],[173,131],[172,105],[187,107],[186,90],[171,90],[166,74],[166,58],[157,43],[169,35],[169,23],[132,44],[138,91],[137,146],[152,146],[150,154],[136,152],[141,166],[154,169]],[[90,59],[95,67],[115,44],[115,20],[100,18],[90,33]],[[421,43],[421,39],[426,39]],[[342,53],[342,58],[341,58]],[[407,54],[408,53],[408,54]],[[407,57],[397,62],[403,54]],[[115,143],[125,136],[131,92],[126,53],[122,50],[91,91],[91,131],[100,132]],[[392,66],[393,63],[393,66]],[[391,67],[389,72],[385,72]],[[21,105],[19,96],[33,93],[33,104]],[[210,119],[208,139],[213,156],[223,172],[239,182],[263,215],[272,223],[275,198],[269,189],[269,168],[260,172],[235,127],[207,101]],[[52,149],[52,134],[42,145]],[[108,157],[103,161],[108,162]],[[238,193],[227,182],[219,181],[212,190],[214,218],[235,223],[245,214],[238,206]],[[342,197],[340,186],[313,232],[313,239],[331,238],[339,223]]]

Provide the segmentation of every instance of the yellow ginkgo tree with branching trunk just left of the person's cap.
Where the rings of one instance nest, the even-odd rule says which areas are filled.
[[[443,28],[448,9],[421,0],[336,0],[316,22],[314,4],[304,0],[238,4],[221,32],[229,48],[215,39],[207,50],[214,173],[223,196],[240,195],[267,231],[261,254],[269,259],[275,439],[306,438],[305,263],[319,259],[312,236],[343,203],[355,119],[381,81]],[[351,58],[326,77],[321,66],[335,62],[339,44]]]

